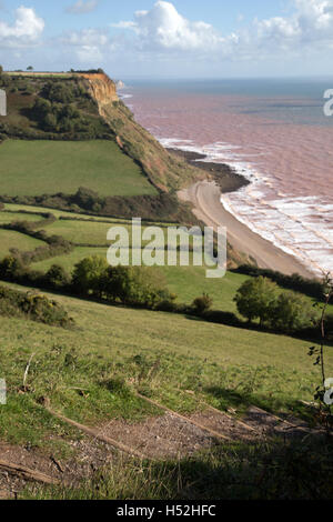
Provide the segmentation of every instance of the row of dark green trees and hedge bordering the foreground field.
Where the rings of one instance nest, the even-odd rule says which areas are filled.
[[[20,257],[7,255],[0,262],[0,279],[111,304],[195,315],[236,328],[312,339],[319,335],[319,313],[311,300],[262,277],[246,280],[235,294],[238,311],[246,322],[231,311],[213,310],[208,294],[199,295],[191,304],[178,303],[158,268],[110,267],[100,255],[82,259],[70,274],[59,264],[46,273],[36,271]],[[332,338],[333,315],[326,317],[325,325]]]

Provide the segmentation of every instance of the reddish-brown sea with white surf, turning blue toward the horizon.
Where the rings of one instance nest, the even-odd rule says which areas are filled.
[[[333,273],[329,89],[333,78],[128,81],[120,96],[164,147],[205,154],[248,178],[221,204],[322,275]]]

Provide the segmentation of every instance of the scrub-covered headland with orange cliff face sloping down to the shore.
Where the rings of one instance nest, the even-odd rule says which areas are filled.
[[[8,93],[9,109],[0,122],[0,141],[111,139],[162,191],[206,177],[171,157],[134,121],[104,73],[3,73],[0,88]]]

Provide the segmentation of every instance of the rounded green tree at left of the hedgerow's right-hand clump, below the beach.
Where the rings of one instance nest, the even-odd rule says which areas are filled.
[[[262,325],[266,322],[276,303],[278,285],[266,278],[248,279],[234,298],[238,311],[251,323],[260,319]]]

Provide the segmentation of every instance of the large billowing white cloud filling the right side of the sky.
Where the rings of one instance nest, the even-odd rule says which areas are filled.
[[[221,59],[260,59],[290,50],[315,51],[333,44],[333,0],[292,0],[293,13],[254,22],[223,36],[204,21],[190,21],[171,2],[158,1],[150,11],[137,11],[133,21],[112,27],[130,29],[142,51],[178,51]]]

